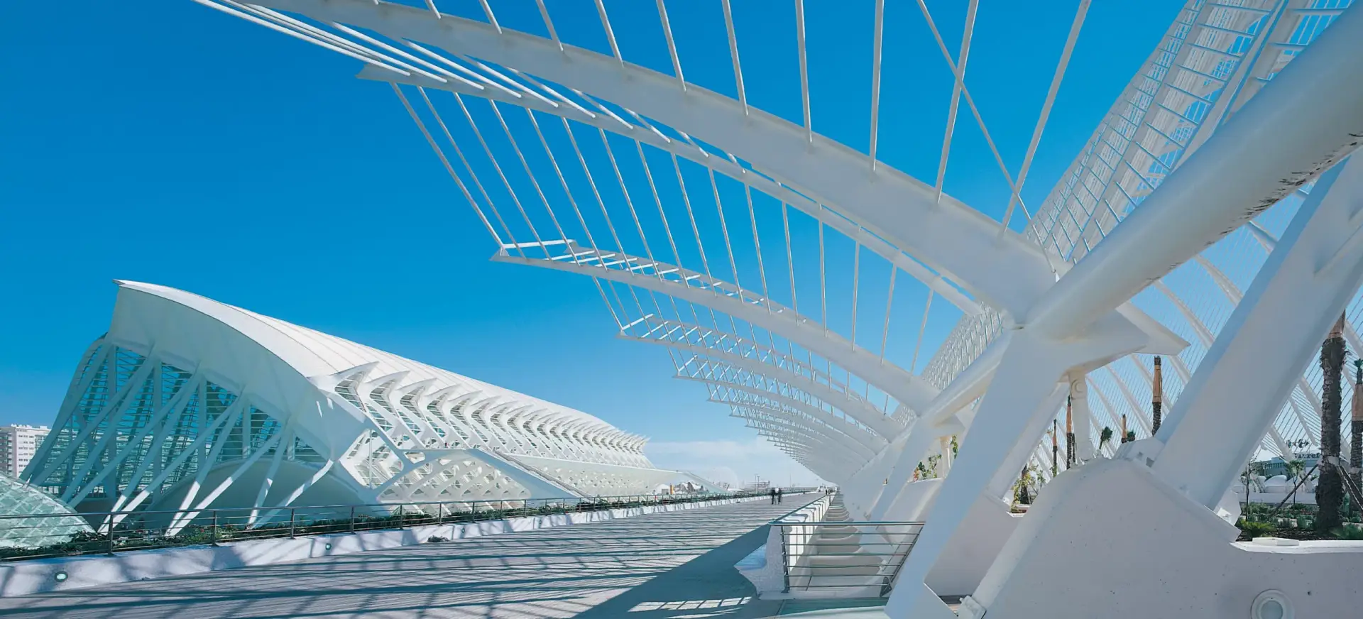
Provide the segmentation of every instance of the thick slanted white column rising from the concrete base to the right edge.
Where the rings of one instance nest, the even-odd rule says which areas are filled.
[[[1154,472],[1209,509],[1363,282],[1360,196],[1363,158],[1317,181],[1160,429]]]

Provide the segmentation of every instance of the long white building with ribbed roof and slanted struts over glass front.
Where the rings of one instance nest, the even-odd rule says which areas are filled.
[[[435,513],[710,485],[657,469],[645,443],[567,406],[121,281],[22,479],[82,511],[174,511],[173,526],[215,507],[248,507],[255,525],[289,506]]]

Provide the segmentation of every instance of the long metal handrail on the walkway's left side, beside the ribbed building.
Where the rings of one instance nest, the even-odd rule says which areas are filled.
[[[402,529],[416,525],[481,522],[521,515],[552,515],[752,496],[758,496],[758,494],[705,492],[3,515],[0,517],[0,532],[10,532],[8,541],[20,541],[20,545],[0,548],[0,562],[95,552],[113,555],[131,549],[195,544],[218,545],[222,541],[249,539],[292,539],[300,534],[354,533],[357,530]],[[367,511],[387,514],[371,515]],[[45,519],[53,524],[5,525],[5,521],[19,518]],[[75,526],[71,522],[76,518],[82,524],[93,525],[94,530],[72,530]],[[164,522],[151,525],[149,519]],[[30,530],[35,534],[16,540],[12,533],[22,530]]]

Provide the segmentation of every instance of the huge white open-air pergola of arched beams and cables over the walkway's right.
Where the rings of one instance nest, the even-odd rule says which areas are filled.
[[[1363,15],[1347,0],[1189,1],[1035,213],[1021,187],[1088,0],[1015,172],[965,80],[977,1],[955,50],[917,3],[917,33],[951,74],[932,183],[878,154],[882,74],[905,64],[885,53],[901,22],[883,0],[866,142],[815,131],[818,22],[800,0],[788,117],[748,91],[744,74],[770,67],[740,53],[744,7],[729,0],[657,0],[658,52],[638,57],[622,52],[638,25],[617,37],[602,0],[484,0],[468,15],[432,0],[195,1],[364,61],[495,260],[590,277],[622,337],[667,348],[680,378],[841,484],[857,517],[925,519],[891,616],[953,616],[943,594],[990,618],[1343,616],[1363,601],[1344,578],[1363,548],[1232,544],[1229,492],[1246,459],[1319,443],[1321,375],[1303,368],[1341,311],[1363,352],[1363,164],[1347,161],[1363,135]],[[732,82],[687,79],[701,44],[680,11],[716,30],[699,41],[726,41]],[[791,23],[759,11],[750,35]],[[943,192],[960,115],[1009,187],[999,218]],[[925,341],[943,314],[955,329]],[[1152,353],[1172,369],[1154,436]],[[1089,464],[1010,515],[1018,472],[1056,465],[1045,432],[1067,398],[1066,457]],[[1094,444],[1123,419],[1138,440]],[[924,461],[935,479],[917,479]]]

